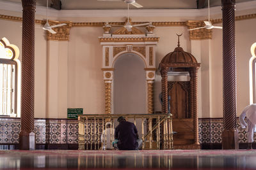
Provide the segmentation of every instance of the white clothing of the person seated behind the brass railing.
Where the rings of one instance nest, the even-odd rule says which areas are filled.
[[[106,135],[106,138],[105,138],[105,135]],[[102,143],[103,150],[112,148],[112,142],[114,139],[114,135],[115,135],[115,129],[113,129],[113,128],[112,128],[112,133],[111,133],[111,128],[107,128],[102,132],[100,140]]]

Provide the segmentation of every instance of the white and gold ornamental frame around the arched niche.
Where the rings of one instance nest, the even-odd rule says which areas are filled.
[[[153,113],[153,85],[156,73],[156,45],[159,38],[154,34],[104,34],[99,37],[102,45],[102,71],[105,84],[105,113],[113,114],[113,79],[115,78],[115,62],[125,56],[125,53],[133,53],[144,63],[145,77],[145,113]],[[130,66],[132,69],[133,66]],[[118,70],[116,70],[118,71]],[[116,72],[115,72],[116,73]],[[129,113],[127,113],[129,114]]]

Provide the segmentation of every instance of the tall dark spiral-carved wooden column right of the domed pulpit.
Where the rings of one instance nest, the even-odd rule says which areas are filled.
[[[235,0],[221,0],[223,20],[223,124],[222,148],[238,149],[236,129]]]

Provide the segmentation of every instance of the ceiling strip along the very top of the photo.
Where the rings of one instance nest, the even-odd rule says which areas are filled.
[[[21,0],[5,0],[21,3]],[[46,6],[47,0],[36,0],[37,6]],[[120,1],[97,0],[48,0],[49,6],[60,10],[124,10],[127,4]],[[236,0],[236,3],[256,0]],[[143,6],[140,9],[198,9],[207,8],[207,0],[136,0]],[[221,6],[221,0],[210,0],[210,6]],[[132,9],[136,9],[131,5]]]

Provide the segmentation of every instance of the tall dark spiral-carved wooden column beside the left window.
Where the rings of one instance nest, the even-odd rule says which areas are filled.
[[[35,150],[35,8],[36,0],[22,0],[22,83],[20,150]]]

